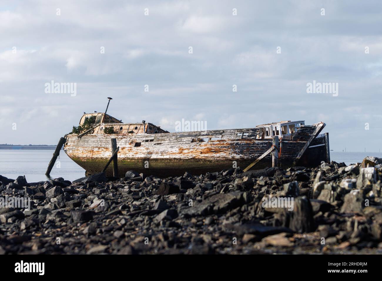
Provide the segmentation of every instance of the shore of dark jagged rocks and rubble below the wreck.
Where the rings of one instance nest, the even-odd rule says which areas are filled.
[[[0,254],[381,254],[381,173],[367,157],[165,179],[0,176],[3,201],[31,203],[0,208]]]

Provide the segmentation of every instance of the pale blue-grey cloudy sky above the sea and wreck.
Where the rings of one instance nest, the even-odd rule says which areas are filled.
[[[380,0],[0,0],[0,144],[57,144],[112,97],[125,123],[323,121],[330,149],[378,152],[381,23]]]

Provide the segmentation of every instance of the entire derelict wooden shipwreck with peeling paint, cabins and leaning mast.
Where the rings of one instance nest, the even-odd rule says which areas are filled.
[[[112,160],[114,174],[134,170],[163,177],[239,166],[246,171],[272,163],[283,168],[330,163],[329,133],[320,134],[323,122],[280,121],[246,129],[168,132],[146,121],[122,123],[106,112],[107,108],[105,113],[84,113],[79,125],[91,118],[94,126],[60,140],[65,153],[87,175],[103,170],[112,175],[113,167],[108,166]]]

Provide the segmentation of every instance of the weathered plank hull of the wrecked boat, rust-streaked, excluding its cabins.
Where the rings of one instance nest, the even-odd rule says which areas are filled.
[[[256,139],[257,129],[215,130],[165,134],[76,134],[66,136],[65,153],[87,174],[103,170],[112,156],[111,139],[117,139],[118,173],[135,170],[147,175],[175,176],[185,171],[199,175],[232,167],[246,168],[272,146],[272,140]],[[206,142],[201,138],[208,139]],[[297,165],[317,166],[329,162],[327,134],[317,136]],[[139,146],[137,146],[139,144]],[[306,141],[282,140],[279,165],[290,167]],[[271,154],[254,166],[272,166]],[[112,165],[106,170],[112,175]]]

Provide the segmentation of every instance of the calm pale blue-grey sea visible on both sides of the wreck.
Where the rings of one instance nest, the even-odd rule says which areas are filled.
[[[8,150],[0,149],[0,175],[15,179],[25,175],[28,182],[45,181],[45,171],[54,150]],[[330,152],[330,159],[346,165],[361,162],[366,156],[382,158],[380,152]],[[59,163],[59,167],[58,162]],[[63,150],[53,166],[51,178],[62,177],[69,181],[85,176],[85,170],[72,161]]]

